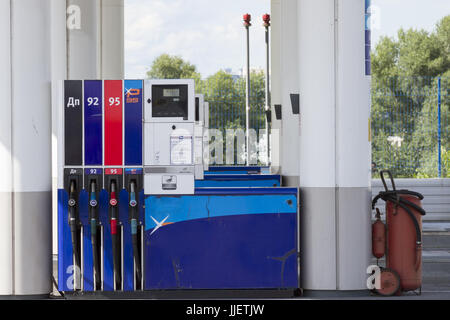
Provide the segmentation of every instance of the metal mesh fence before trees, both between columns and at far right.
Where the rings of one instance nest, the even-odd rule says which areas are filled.
[[[373,79],[374,178],[380,169],[397,178],[450,178],[449,84],[448,77]],[[264,73],[252,75],[250,89],[250,128],[259,134],[265,129]],[[209,127],[224,140],[227,129],[245,129],[245,79],[219,74],[199,81],[197,92],[209,102]]]

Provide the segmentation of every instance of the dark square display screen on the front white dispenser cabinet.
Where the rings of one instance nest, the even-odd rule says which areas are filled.
[[[153,85],[152,116],[188,119],[187,85]]]

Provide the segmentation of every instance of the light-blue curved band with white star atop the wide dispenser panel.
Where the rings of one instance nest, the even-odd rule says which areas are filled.
[[[157,223],[210,217],[297,212],[296,195],[149,196],[145,200],[145,230]],[[156,221],[155,221],[156,220]]]

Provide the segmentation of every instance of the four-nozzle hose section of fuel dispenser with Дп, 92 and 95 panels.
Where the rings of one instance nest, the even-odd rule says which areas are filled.
[[[142,80],[53,84],[58,289],[142,288]]]

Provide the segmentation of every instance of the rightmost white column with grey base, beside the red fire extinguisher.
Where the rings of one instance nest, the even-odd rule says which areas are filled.
[[[371,257],[370,76],[365,74],[365,1],[337,4],[337,289],[367,289]]]

